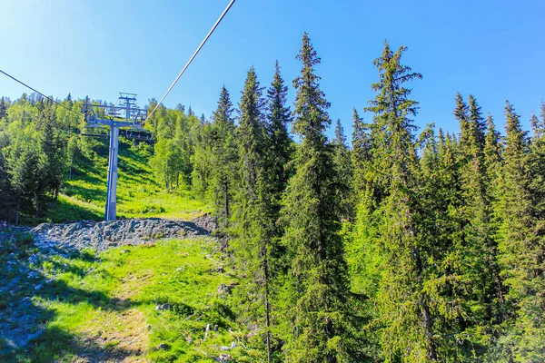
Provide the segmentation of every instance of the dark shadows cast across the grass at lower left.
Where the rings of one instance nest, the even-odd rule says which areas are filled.
[[[54,306],[55,302],[61,302],[74,307],[88,304],[103,311],[124,311],[139,304],[131,299],[112,298],[93,286],[89,289],[71,287],[64,280],[49,279],[36,267],[48,263],[49,269],[83,278],[88,273],[97,273],[85,269],[88,263],[78,263],[96,261],[93,254],[74,252],[66,263],[51,257],[46,257],[43,263],[33,263],[33,248],[32,243],[23,248],[12,240],[4,241],[0,249],[0,271],[3,271],[0,274],[0,361],[52,362],[74,358],[89,362],[121,361],[142,353],[109,347],[105,341],[101,344],[100,338],[81,336],[50,324],[59,313],[50,303]],[[114,279],[104,270],[98,273],[104,274],[101,278],[106,280]]]

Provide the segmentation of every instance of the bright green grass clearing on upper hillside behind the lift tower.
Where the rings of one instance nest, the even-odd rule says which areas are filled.
[[[193,191],[166,192],[156,182],[147,161],[149,153],[129,142],[120,142],[117,182],[118,218],[172,218],[190,220],[211,211],[207,203]],[[72,179],[64,188],[56,205],[50,206],[46,220],[53,222],[104,218],[106,199],[107,155],[93,160],[81,157]],[[26,218],[26,223],[38,221]]]

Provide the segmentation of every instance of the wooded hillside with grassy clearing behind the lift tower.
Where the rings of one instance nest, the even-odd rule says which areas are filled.
[[[36,93],[13,103],[0,99],[0,220],[35,224],[104,218],[107,133],[84,127],[83,101],[69,94],[56,104]],[[188,187],[190,163],[182,140],[167,145],[163,139],[166,128],[178,128],[187,137],[192,124],[200,123],[182,110],[171,112],[174,126],[166,117],[161,128],[155,125],[161,138],[155,148],[153,142],[125,138],[122,131],[117,190],[122,218],[187,219],[210,211]]]

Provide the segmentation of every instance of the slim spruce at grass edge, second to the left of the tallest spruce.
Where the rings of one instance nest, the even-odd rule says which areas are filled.
[[[257,343],[259,351],[266,351],[271,361],[271,304],[270,249],[274,231],[272,218],[271,176],[267,152],[270,140],[263,113],[263,88],[257,81],[253,67],[247,74],[240,103],[240,123],[236,130],[240,171],[240,185],[234,204],[231,231],[237,232],[233,241],[238,269],[244,280],[237,289],[239,301],[235,310],[245,326],[264,325],[264,342]],[[262,324],[263,322],[263,324]]]

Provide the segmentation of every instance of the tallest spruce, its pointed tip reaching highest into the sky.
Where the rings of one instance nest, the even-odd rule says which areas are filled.
[[[348,280],[339,231],[340,201],[334,190],[336,172],[326,145],[330,104],[320,90],[314,66],[320,58],[308,34],[302,36],[301,75],[296,90],[293,131],[302,138],[295,175],[282,209],[284,242],[292,256],[284,319],[286,361],[338,362],[349,355]]]

